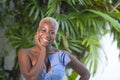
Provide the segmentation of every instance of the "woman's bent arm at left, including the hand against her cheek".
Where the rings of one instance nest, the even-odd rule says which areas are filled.
[[[30,58],[31,54],[29,54],[27,50],[21,49],[18,52],[20,70],[24,75],[24,77],[26,78],[26,80],[38,80],[44,67],[44,62],[46,57],[46,47],[40,44],[37,34],[34,37],[34,41],[35,41],[35,45],[37,46],[37,48],[35,48],[34,50],[39,53],[39,57],[35,65],[32,65],[32,61]]]

